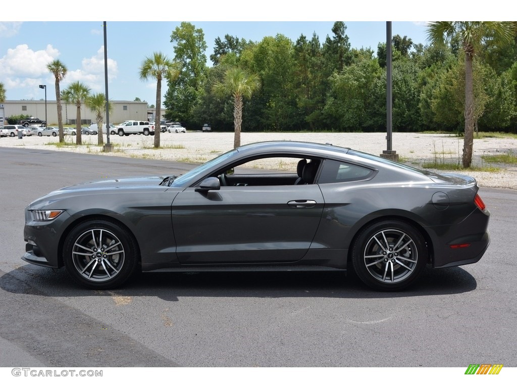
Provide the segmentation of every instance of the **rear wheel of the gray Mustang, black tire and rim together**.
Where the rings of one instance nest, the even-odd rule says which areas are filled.
[[[378,291],[400,291],[412,285],[422,274],[428,256],[422,234],[399,220],[366,227],[352,247],[357,276]]]

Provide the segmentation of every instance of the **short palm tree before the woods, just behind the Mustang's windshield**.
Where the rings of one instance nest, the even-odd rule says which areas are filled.
[[[240,130],[242,125],[242,105],[244,97],[250,98],[253,92],[260,88],[260,80],[256,74],[240,67],[233,67],[226,70],[222,82],[212,85],[212,93],[220,96],[233,97],[233,123],[235,126],[235,137],[233,147],[240,146]]]

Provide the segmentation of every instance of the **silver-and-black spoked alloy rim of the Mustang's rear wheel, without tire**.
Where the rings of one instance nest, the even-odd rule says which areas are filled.
[[[364,265],[378,281],[397,283],[405,280],[417,267],[418,249],[413,239],[398,229],[374,234],[363,252]]]

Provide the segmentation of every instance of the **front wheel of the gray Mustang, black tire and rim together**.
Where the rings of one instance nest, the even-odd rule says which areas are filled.
[[[63,261],[74,281],[107,290],[136,272],[139,249],[131,233],[111,221],[90,220],[72,229],[63,247]]]

